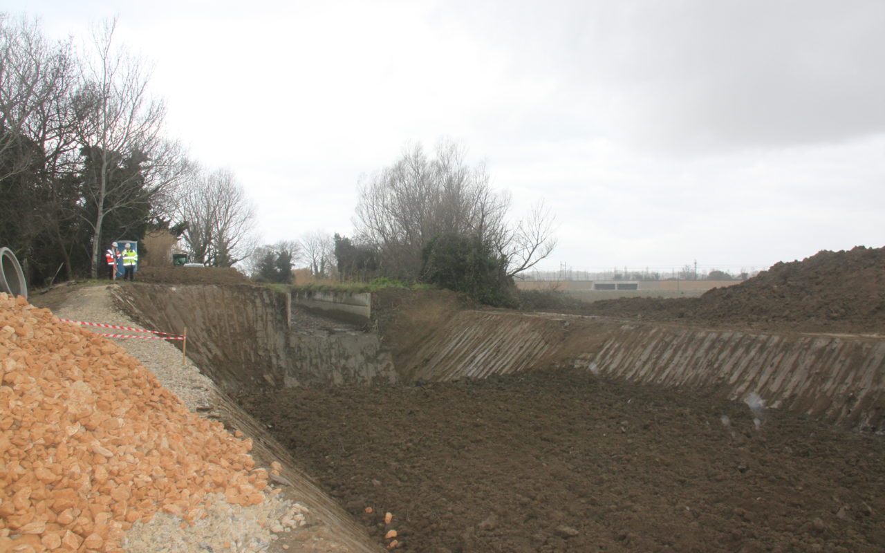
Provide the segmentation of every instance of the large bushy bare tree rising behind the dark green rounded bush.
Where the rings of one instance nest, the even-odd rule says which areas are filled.
[[[360,238],[378,244],[384,272],[416,278],[421,251],[440,234],[469,235],[507,262],[508,276],[550,255],[550,211],[539,205],[516,227],[506,223],[510,196],[489,185],[484,165],[466,165],[465,150],[441,141],[429,159],[420,144],[394,165],[362,180],[356,213]]]

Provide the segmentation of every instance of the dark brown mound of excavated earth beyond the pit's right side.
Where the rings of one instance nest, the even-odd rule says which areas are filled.
[[[624,298],[581,308],[616,318],[885,333],[885,248],[820,251],[699,298]]]

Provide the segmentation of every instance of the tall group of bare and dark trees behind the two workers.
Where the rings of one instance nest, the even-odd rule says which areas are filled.
[[[242,186],[165,136],[150,67],[115,30],[115,20],[94,26],[78,51],[35,19],[0,13],[0,245],[38,285],[96,278],[104,248],[150,231],[171,231],[208,265],[234,265],[254,246]]]

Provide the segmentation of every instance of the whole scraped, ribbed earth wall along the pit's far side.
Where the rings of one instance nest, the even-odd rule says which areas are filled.
[[[885,430],[885,340],[761,334],[512,311],[465,310],[444,295],[375,301],[378,331],[300,328],[289,298],[249,286],[121,287],[158,329],[189,328],[189,355],[222,387],[445,381],[534,367],[594,373]]]

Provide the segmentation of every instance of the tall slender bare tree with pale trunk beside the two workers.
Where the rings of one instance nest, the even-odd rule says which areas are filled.
[[[93,30],[93,59],[85,66],[76,107],[86,153],[84,196],[93,206],[91,274],[97,275],[104,219],[126,208],[150,210],[181,177],[181,150],[162,140],[165,103],[148,92],[150,71],[115,48],[116,20]]]

